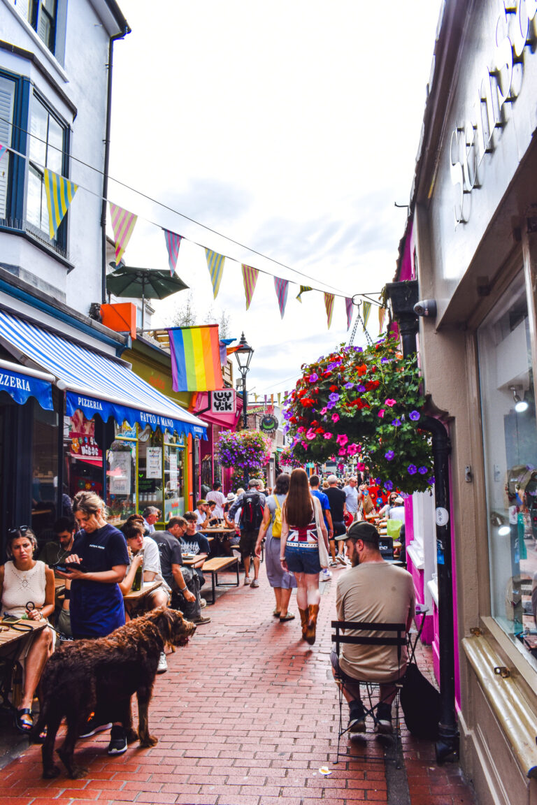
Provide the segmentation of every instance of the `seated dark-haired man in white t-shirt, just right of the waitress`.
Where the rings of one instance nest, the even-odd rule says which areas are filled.
[[[134,576],[136,576],[136,571],[140,565],[142,565],[142,579],[144,582],[159,581],[161,584],[160,587],[149,592],[137,602],[136,606],[129,610],[131,617],[134,613],[138,615],[142,612],[149,612],[150,609],[155,609],[157,606],[167,606],[171,597],[171,589],[160,572],[159,548],[154,539],[144,537],[144,530],[143,522],[132,522],[125,530],[130,565],[127,568],[125,578],[119,582],[119,589],[122,591],[123,596],[130,592]],[[166,654],[161,651],[157,674],[163,674],[165,671],[167,671]]]

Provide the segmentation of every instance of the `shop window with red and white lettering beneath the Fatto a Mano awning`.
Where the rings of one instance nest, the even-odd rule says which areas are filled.
[[[64,493],[87,490],[102,495],[102,423],[82,411],[64,417]]]

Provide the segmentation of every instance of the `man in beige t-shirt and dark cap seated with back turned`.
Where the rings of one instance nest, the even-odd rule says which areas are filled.
[[[352,564],[352,568],[337,581],[337,619],[404,623],[408,632],[415,609],[414,582],[406,570],[382,559],[378,549],[378,530],[369,522],[354,522],[346,536],[336,539],[345,540]],[[393,638],[394,634],[385,633],[386,638]],[[365,710],[357,679],[380,683],[377,729],[379,733],[391,733],[391,703],[397,692],[394,682],[407,670],[407,647],[403,646],[398,658],[398,646],[342,643],[340,657],[333,650],[331,661],[334,676],[335,671],[341,675],[343,681],[338,683],[343,685],[343,695],[349,702],[349,733],[366,731]]]

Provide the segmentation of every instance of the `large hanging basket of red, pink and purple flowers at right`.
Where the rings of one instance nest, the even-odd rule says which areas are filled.
[[[311,365],[284,417],[301,464],[356,456],[384,489],[423,492],[432,477],[431,440],[419,428],[423,395],[415,356],[386,336],[366,349],[345,347]]]

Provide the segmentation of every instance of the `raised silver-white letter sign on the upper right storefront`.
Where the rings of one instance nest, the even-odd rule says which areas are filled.
[[[506,103],[516,101],[523,81],[522,54],[537,13],[537,0],[517,0],[502,8],[494,29],[491,66],[485,66],[476,87],[473,120],[452,130],[449,144],[450,175],[455,188],[455,226],[468,222],[465,198],[481,188],[481,162],[494,151],[494,131],[506,122]]]

